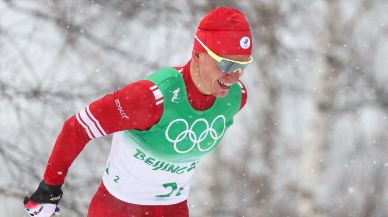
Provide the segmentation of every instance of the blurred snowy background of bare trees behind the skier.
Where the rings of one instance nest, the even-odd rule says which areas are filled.
[[[190,215],[387,217],[387,0],[0,0],[2,215],[28,217],[65,120],[186,64],[219,6],[245,14],[255,61],[245,108],[198,165]],[[111,139],[70,167],[63,217],[86,216]]]

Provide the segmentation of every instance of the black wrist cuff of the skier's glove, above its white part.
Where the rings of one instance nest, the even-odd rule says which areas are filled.
[[[30,200],[40,203],[58,204],[62,198],[62,185],[52,186],[43,180],[40,182],[38,189],[32,194]]]

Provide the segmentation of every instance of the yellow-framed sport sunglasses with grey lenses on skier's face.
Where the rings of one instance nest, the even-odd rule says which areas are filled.
[[[246,67],[253,61],[252,56],[250,56],[250,60],[246,62],[240,62],[235,60],[229,60],[223,57],[218,56],[217,54],[213,53],[208,47],[206,47],[205,44],[202,43],[201,40],[195,35],[195,39],[199,42],[199,44],[202,45],[203,48],[208,52],[210,57],[212,57],[214,60],[216,60],[217,67],[226,74],[232,74],[234,72],[239,72],[239,74],[242,74]]]

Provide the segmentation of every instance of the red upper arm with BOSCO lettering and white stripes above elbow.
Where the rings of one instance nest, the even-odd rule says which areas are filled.
[[[129,129],[148,129],[162,116],[162,104],[149,86],[138,81],[91,103],[77,114],[90,139]]]

